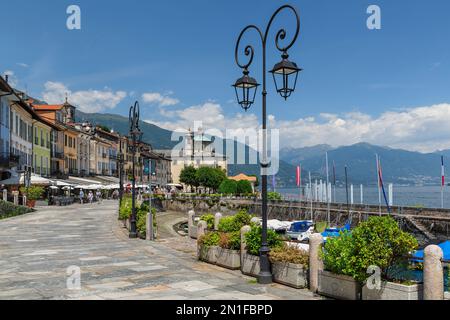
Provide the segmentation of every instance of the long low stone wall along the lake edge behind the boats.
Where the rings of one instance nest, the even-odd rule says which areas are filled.
[[[239,209],[247,209],[251,214],[260,216],[261,201],[251,199],[228,199],[228,198],[193,198],[162,200],[162,206],[166,210],[188,212],[195,210],[197,214],[221,212],[224,215],[232,214]],[[269,201],[269,219],[279,220],[309,220],[311,219],[311,204],[299,201]],[[313,203],[314,220],[327,221],[327,204]],[[335,225],[345,224],[351,217],[352,224],[356,225],[367,220],[369,216],[379,215],[378,206],[353,205],[350,214],[346,204],[330,205],[330,221]],[[386,208],[382,207],[382,214],[387,214]],[[450,236],[450,210],[432,208],[412,208],[412,207],[392,207],[392,216],[397,219],[403,229],[417,234],[422,234],[407,219],[413,217],[415,221],[421,223],[433,235],[436,240],[445,240]],[[421,242],[426,242],[426,239]]]

